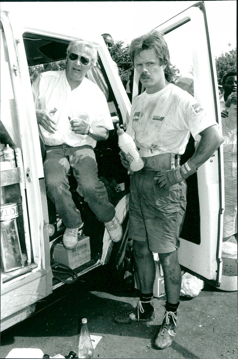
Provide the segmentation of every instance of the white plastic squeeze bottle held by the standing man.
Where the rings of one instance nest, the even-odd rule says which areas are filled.
[[[125,159],[130,164],[130,169],[133,172],[139,171],[144,167],[144,162],[140,157],[140,154],[136,148],[136,144],[133,138],[126,134],[123,129],[120,128],[117,123],[117,134],[118,134],[118,146],[121,148],[125,155]]]

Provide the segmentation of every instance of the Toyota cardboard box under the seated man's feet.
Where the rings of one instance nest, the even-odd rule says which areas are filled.
[[[90,242],[88,236],[78,235],[78,244],[73,250],[64,248],[63,243],[57,243],[53,257],[55,262],[64,264],[72,269],[82,266],[91,260]]]

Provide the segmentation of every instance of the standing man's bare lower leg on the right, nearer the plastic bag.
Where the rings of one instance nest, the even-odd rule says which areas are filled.
[[[164,271],[167,301],[171,304],[176,304],[179,301],[181,289],[181,268],[178,261],[178,252],[159,253],[159,258]]]

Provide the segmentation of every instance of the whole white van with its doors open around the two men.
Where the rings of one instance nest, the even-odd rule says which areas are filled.
[[[191,6],[158,27],[165,34],[171,61],[183,60],[183,49],[189,53],[193,66],[194,97],[206,108],[208,115],[220,124],[219,94],[214,59],[211,55],[207,20],[203,2]],[[1,331],[24,320],[34,312],[35,303],[74,276],[66,273],[57,279],[50,247],[62,237],[64,227],[47,199],[42,155],[29,66],[65,59],[68,43],[81,37],[97,44],[99,64],[112,101],[109,104],[113,122],[126,129],[131,104],[117,74],[103,38],[89,37],[80,29],[67,33],[47,31],[47,24],[33,29],[16,24],[7,11],[1,11],[1,143],[15,150],[17,167],[1,171],[1,206],[15,202],[19,216],[17,225],[23,253],[19,269],[4,271],[1,262]],[[138,34],[140,35],[140,34]],[[138,95],[139,79],[134,78],[133,97]],[[112,109],[113,108],[113,109]],[[194,151],[191,139],[184,163]],[[118,155],[117,135],[99,142],[96,149],[99,176],[105,182],[116,215],[122,223],[123,240],[114,244],[103,224],[99,223],[82,198],[77,197],[72,179],[72,194],[84,220],[84,238],[90,244],[90,258],[74,268],[78,276],[107,263],[113,251],[124,251],[128,234],[128,196],[130,176]],[[116,183],[118,186],[111,186]],[[183,269],[195,273],[215,286],[222,278],[222,229],[224,210],[222,146],[189,177],[188,205],[181,233],[179,261]],[[117,187],[117,190],[116,190]],[[2,239],[1,239],[2,242]],[[1,248],[2,257],[5,248]],[[117,255],[117,253],[116,253]],[[123,256],[123,255],[122,255]],[[122,258],[120,257],[120,260]],[[119,258],[117,256],[117,258]],[[53,276],[54,275],[54,276]]]

